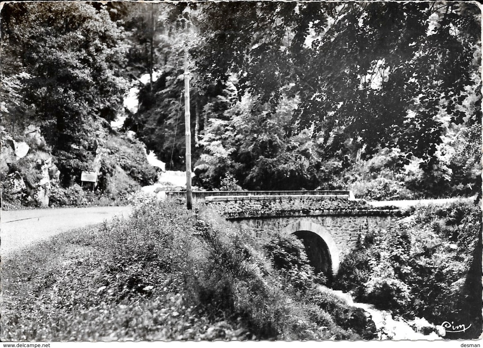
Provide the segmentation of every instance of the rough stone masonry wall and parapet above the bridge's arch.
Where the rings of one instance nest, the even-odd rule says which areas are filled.
[[[299,221],[316,224],[305,226],[313,226],[318,232],[312,232],[318,234],[321,230],[328,233],[340,260],[355,247],[359,236],[387,230],[391,221],[403,215],[398,209],[374,208],[351,195],[207,196],[205,204],[256,237],[265,238],[269,231],[281,233]]]

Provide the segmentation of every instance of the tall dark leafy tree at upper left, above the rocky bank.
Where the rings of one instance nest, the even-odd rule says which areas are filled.
[[[9,121],[28,111],[40,123],[69,185],[95,155],[99,132],[122,111],[122,29],[104,7],[82,2],[7,3],[1,29]]]

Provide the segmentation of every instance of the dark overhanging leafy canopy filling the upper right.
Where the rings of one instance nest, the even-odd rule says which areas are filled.
[[[448,121],[480,84],[480,11],[464,2],[203,3],[192,49],[205,85],[239,76],[238,91],[275,107],[300,98],[293,122],[323,133],[325,156],[401,150],[430,168]],[[479,112],[479,111],[477,111]]]

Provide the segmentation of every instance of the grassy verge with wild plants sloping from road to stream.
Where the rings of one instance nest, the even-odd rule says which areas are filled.
[[[373,323],[174,201],[2,260],[2,340],[370,339]],[[302,265],[304,267],[304,265]],[[287,275],[292,276],[287,276]]]

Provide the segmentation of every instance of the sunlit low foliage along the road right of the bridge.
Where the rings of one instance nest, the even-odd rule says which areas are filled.
[[[467,131],[462,128],[455,139],[442,147],[438,165],[429,172],[419,167],[418,160],[397,169],[400,150],[384,149],[366,161],[356,153],[347,168],[342,168],[337,160],[325,162],[322,168],[326,174],[321,186],[327,189],[347,187],[356,197],[368,200],[475,195],[479,193],[481,170],[474,162],[478,159],[476,153],[467,152],[468,142],[471,142],[463,136]],[[462,139],[466,140],[460,143]]]

